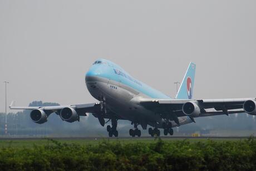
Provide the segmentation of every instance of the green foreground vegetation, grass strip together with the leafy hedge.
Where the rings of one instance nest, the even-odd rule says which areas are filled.
[[[250,138],[0,139],[0,170],[256,170]]]

